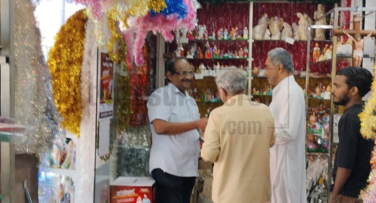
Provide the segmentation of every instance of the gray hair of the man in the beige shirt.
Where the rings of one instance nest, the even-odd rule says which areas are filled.
[[[247,76],[244,70],[235,66],[229,66],[226,69],[221,70],[215,79],[218,89],[223,88],[229,94],[244,92],[247,89]]]

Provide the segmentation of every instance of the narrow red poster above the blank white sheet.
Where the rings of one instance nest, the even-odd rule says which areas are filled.
[[[100,53],[100,104],[112,104],[114,98],[114,63]]]

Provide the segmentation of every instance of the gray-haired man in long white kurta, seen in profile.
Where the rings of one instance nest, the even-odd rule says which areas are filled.
[[[271,203],[306,202],[305,98],[293,70],[293,58],[285,49],[268,52],[265,75],[275,86],[269,108],[276,128],[270,148]]]

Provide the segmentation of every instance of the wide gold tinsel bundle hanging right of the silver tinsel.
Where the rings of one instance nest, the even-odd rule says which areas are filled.
[[[55,37],[47,61],[56,107],[63,118],[62,127],[79,136],[81,112],[80,73],[85,41],[84,9],[72,15]]]

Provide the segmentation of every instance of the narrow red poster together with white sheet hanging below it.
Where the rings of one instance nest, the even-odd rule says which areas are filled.
[[[114,112],[114,63],[107,53],[98,53],[98,156],[102,157],[109,154],[110,120]]]

